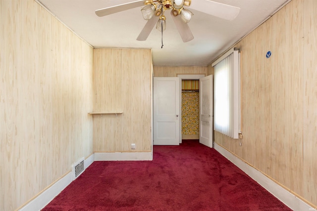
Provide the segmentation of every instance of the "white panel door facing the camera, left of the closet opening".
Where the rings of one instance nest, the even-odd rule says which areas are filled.
[[[153,144],[179,145],[179,78],[153,80]]]

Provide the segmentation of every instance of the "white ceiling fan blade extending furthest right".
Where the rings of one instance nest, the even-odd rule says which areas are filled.
[[[191,9],[230,21],[235,19],[240,12],[239,7],[211,0],[192,0],[189,7]]]

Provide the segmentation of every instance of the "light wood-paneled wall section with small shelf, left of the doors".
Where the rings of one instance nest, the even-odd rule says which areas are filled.
[[[94,49],[95,152],[151,152],[151,49]],[[136,149],[131,150],[131,144]]]

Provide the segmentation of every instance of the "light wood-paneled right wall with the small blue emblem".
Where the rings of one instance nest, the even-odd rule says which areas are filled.
[[[215,142],[317,207],[317,1],[292,0],[239,42],[243,139]],[[266,58],[271,51],[270,58]],[[239,143],[242,146],[239,146]]]

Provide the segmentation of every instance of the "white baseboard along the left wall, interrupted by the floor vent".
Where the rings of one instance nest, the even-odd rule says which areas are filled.
[[[94,162],[94,154],[84,161],[85,169]],[[27,203],[19,211],[40,211],[47,206],[62,190],[72,182],[72,172],[53,183],[49,188],[40,193],[36,198]]]

